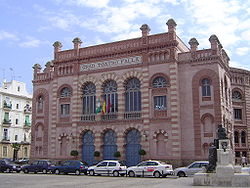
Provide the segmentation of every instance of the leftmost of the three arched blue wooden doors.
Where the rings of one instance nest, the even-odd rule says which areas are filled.
[[[92,165],[94,163],[94,152],[94,135],[91,131],[88,131],[82,137],[82,160]]]

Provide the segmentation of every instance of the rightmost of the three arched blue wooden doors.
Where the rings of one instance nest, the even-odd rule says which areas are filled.
[[[141,135],[136,129],[132,129],[126,136],[126,165],[133,166],[141,161],[139,150],[141,149]]]

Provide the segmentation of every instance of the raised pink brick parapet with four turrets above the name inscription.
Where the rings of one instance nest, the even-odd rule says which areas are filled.
[[[143,24],[140,27],[142,36],[139,38],[84,48],[81,48],[82,41],[77,37],[72,41],[74,48],[69,50],[61,50],[62,44],[57,41],[53,45],[55,54],[54,63],[71,60],[94,61],[103,58],[116,58],[121,55],[140,53],[145,51],[145,49],[164,49],[169,47],[177,47],[179,44],[184,46],[185,50],[188,50],[185,44],[177,37],[175,33],[176,26],[177,24],[175,21],[173,19],[169,19],[167,21],[168,31],[166,33],[149,35],[150,27],[147,24]]]

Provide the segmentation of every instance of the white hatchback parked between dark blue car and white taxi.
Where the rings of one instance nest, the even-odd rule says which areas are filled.
[[[121,161],[116,160],[103,160],[97,165],[88,168],[88,174],[94,175],[113,175],[124,176],[126,175],[127,167]]]

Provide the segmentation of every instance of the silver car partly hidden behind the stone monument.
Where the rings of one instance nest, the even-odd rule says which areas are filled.
[[[195,173],[202,171],[202,167],[207,167],[208,161],[195,161],[187,167],[179,167],[174,170],[174,174],[179,177],[193,176]]]

